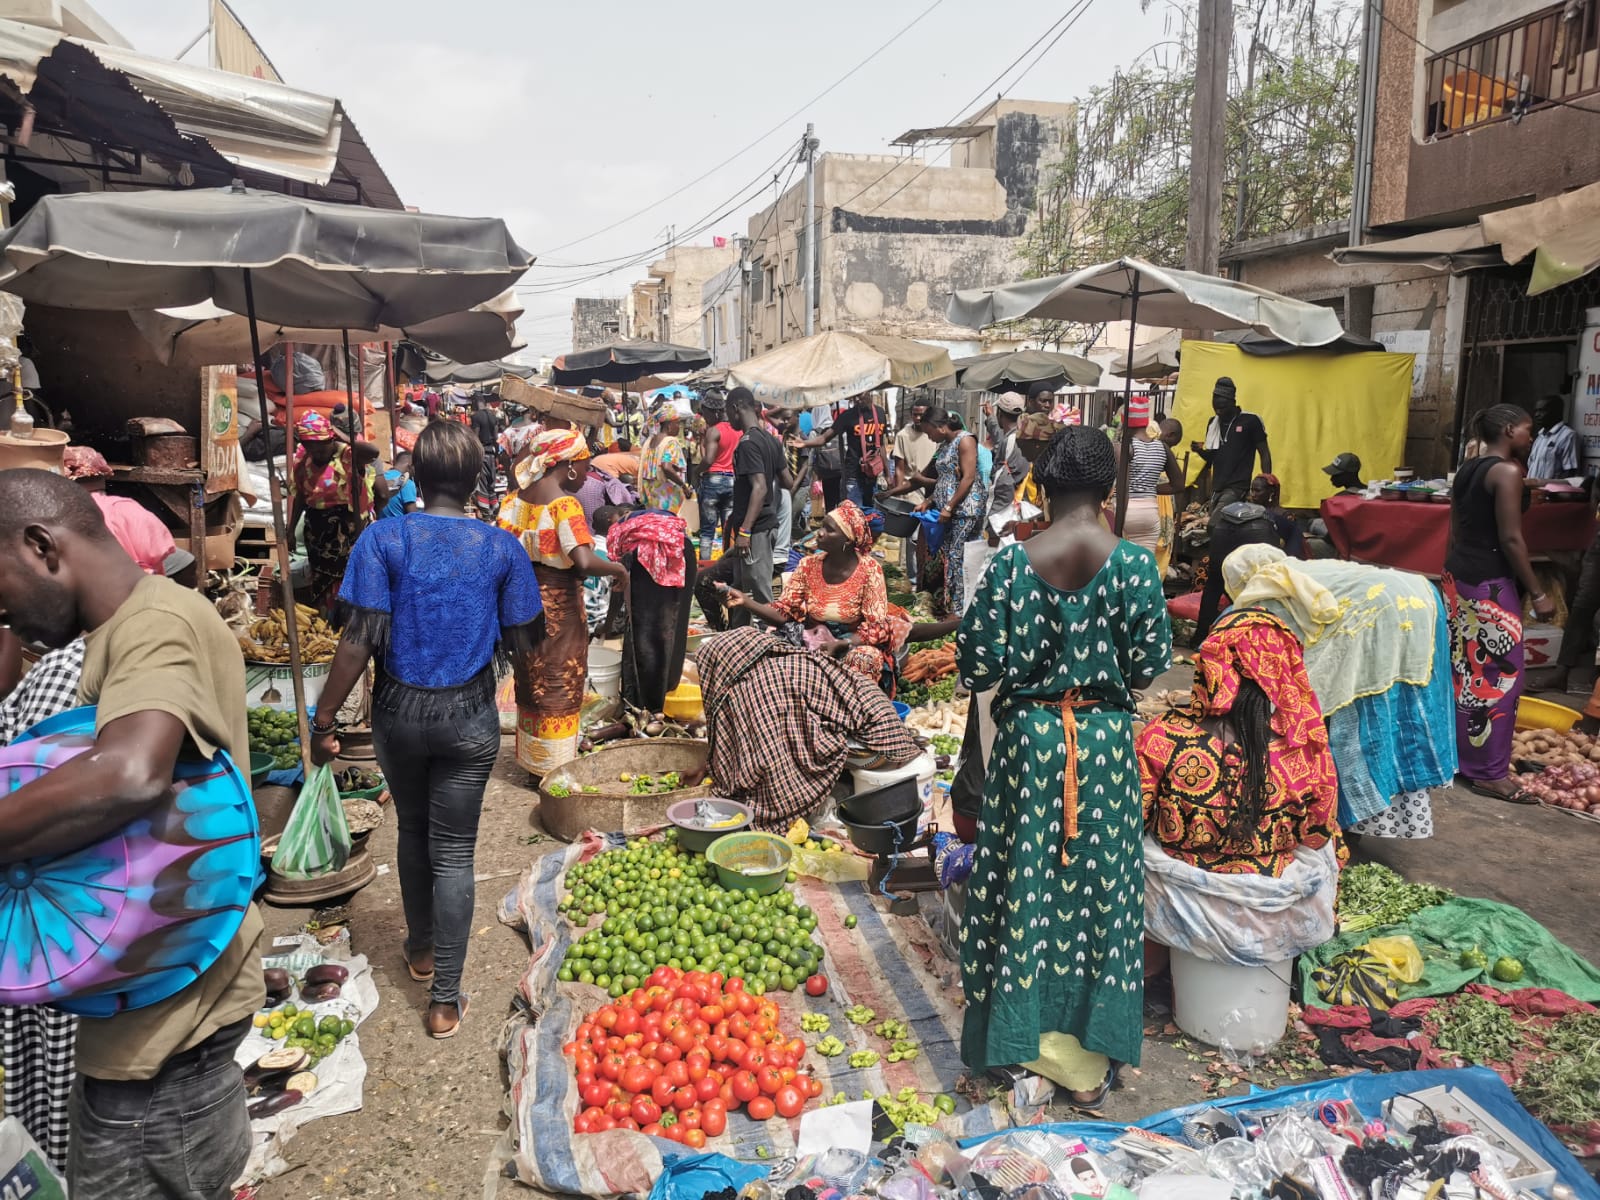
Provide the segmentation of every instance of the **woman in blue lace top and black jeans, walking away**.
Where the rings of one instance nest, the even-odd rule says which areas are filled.
[[[472,925],[472,851],[483,789],[499,754],[494,659],[542,637],[539,584],[522,544],[472,518],[483,448],[435,421],[416,440],[424,512],[366,526],[339,598],[354,616],[312,723],[312,758],[339,752],[334,714],[378,661],[373,744],[395,800],[406,970],[432,982],[430,1037],[467,1011],[461,973]]]

